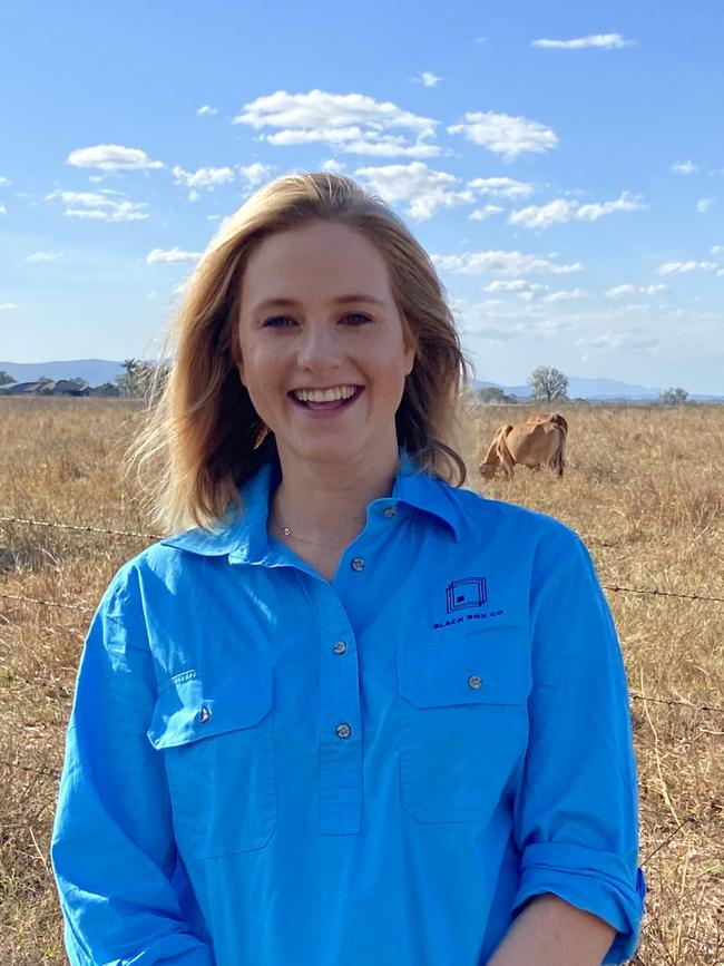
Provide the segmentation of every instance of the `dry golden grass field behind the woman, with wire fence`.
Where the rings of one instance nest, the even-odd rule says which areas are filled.
[[[562,479],[481,481],[479,450],[525,410],[471,410],[468,486],[551,514],[604,585],[724,598],[724,408],[564,407]],[[119,462],[138,407],[0,400],[0,516],[147,531]],[[479,423],[480,445],[474,439]],[[48,858],[89,613],[149,540],[0,521],[0,953],[65,963]],[[71,607],[12,599],[25,596]],[[724,604],[607,591],[632,691],[648,879],[646,966],[724,964]],[[646,695],[650,700],[643,700]]]

